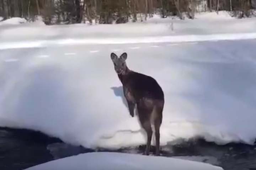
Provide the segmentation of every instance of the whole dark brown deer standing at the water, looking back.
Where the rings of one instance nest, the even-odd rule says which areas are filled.
[[[146,155],[149,154],[152,128],[155,127],[156,155],[160,152],[160,126],[164,108],[164,92],[156,80],[150,76],[130,70],[126,65],[127,53],[119,58],[111,53],[111,60],[119,80],[123,84],[124,96],[128,103],[130,115],[134,117],[134,108],[137,106],[138,117],[142,128],[147,134]]]

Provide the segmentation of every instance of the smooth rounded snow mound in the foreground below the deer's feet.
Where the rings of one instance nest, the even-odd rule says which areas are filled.
[[[86,153],[37,165],[26,170],[223,170],[220,167],[182,159],[124,153]]]

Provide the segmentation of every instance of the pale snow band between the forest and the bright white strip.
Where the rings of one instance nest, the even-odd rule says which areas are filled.
[[[172,30],[172,23],[173,29]],[[61,26],[40,26],[25,23],[21,26],[0,27],[2,41],[56,40],[56,39],[97,39],[97,38],[138,38],[145,36],[209,35],[255,33],[256,19],[232,18],[226,12],[217,15],[199,13],[196,19],[149,18],[146,22],[126,24],[73,24]]]

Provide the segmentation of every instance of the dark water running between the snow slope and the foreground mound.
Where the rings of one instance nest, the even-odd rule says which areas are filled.
[[[224,170],[256,170],[256,146],[235,143],[218,146],[202,139],[179,143],[162,147],[162,156],[206,162],[221,166]],[[142,154],[144,149],[145,146],[138,146],[112,152]],[[99,148],[97,151],[108,150]],[[71,146],[58,138],[36,131],[0,128],[0,170],[22,170],[50,160],[87,152],[96,151]]]

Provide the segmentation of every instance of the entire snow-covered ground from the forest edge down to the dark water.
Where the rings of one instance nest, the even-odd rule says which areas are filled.
[[[253,144],[256,21],[225,15],[175,20],[174,32],[160,18],[107,26],[2,25],[0,126],[39,130],[89,148],[144,144],[110,60],[111,52],[126,51],[130,69],[153,76],[164,90],[161,145],[198,136]],[[194,42],[184,42],[190,38]]]

